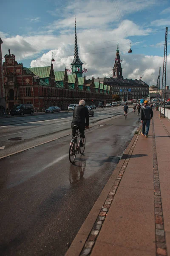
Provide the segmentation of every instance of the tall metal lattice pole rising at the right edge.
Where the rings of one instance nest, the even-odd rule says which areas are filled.
[[[164,117],[165,117],[165,99],[166,99],[166,74],[167,74],[167,27],[165,30],[164,64],[163,64],[162,88],[161,88],[161,103],[162,103],[162,95],[163,95],[163,89],[164,89]],[[161,110],[160,110],[160,116],[161,116]]]

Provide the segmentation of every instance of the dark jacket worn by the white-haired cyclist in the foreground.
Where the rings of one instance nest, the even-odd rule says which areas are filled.
[[[79,122],[85,126],[89,125],[88,109],[82,105],[74,108],[72,123]]]

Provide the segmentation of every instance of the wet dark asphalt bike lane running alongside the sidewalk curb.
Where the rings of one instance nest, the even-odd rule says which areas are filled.
[[[89,129],[75,165],[71,136],[0,160],[0,255],[64,256],[137,125],[130,113]]]

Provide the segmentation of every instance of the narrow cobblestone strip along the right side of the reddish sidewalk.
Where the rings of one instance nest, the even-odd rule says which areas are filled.
[[[155,206],[155,233],[156,233],[156,256],[166,256],[167,246],[164,232],[164,217],[161,203],[161,188],[159,183],[159,171],[156,154],[156,140],[153,124],[153,179],[154,179],[154,206]]]

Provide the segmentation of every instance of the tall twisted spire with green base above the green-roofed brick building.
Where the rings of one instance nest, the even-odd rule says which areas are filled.
[[[72,74],[77,74],[77,77],[82,77],[82,61],[79,58],[77,33],[76,33],[76,16],[75,16],[75,46],[74,46],[74,61],[71,63]]]

